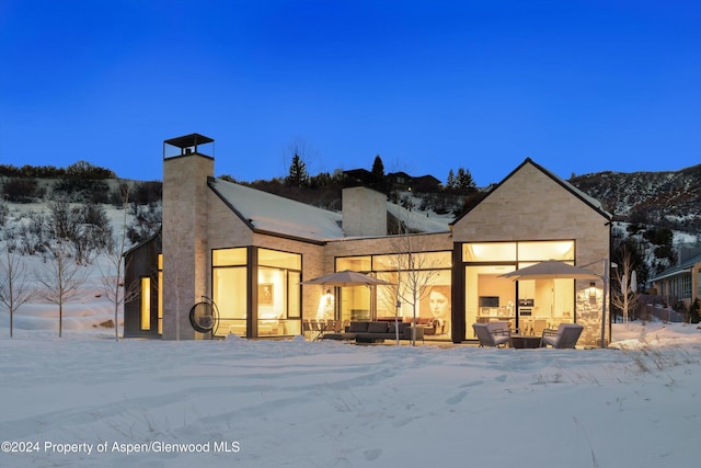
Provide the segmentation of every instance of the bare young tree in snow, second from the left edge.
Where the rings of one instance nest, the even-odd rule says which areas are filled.
[[[64,304],[73,299],[80,285],[85,281],[85,269],[76,263],[71,246],[57,239],[49,244],[46,270],[37,275],[44,286],[42,295],[46,300],[58,306],[58,336],[64,331]]]

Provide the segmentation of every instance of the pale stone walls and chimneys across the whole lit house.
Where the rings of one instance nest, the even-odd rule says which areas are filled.
[[[588,198],[547,170],[526,160],[479,205],[438,233],[387,236],[387,201],[364,187],[344,190],[343,235],[338,239],[301,239],[256,230],[237,210],[237,201],[214,190],[214,159],[187,152],[163,160],[163,323],[162,338],[202,338],[188,322],[189,308],[211,295],[211,251],[227,248],[265,248],[301,255],[302,281],[335,271],[345,256],[387,255],[400,251],[452,252],[453,322],[456,342],[466,338],[464,283],[461,246],[464,242],[574,240],[575,264],[604,272],[610,249],[610,217]],[[249,198],[246,198],[249,199]],[[334,225],[335,227],[335,225]],[[341,235],[338,235],[341,236]],[[251,252],[251,251],[250,251]],[[249,267],[253,267],[249,265]],[[249,277],[253,297],[255,270]],[[577,281],[575,294],[585,295],[589,281]],[[601,288],[604,282],[596,282]],[[301,288],[302,318],[313,318],[323,288]],[[608,303],[608,301],[607,301]],[[248,316],[256,320],[255,303]],[[579,307],[575,321],[585,326],[581,344],[595,345],[600,338],[599,300]],[[607,304],[608,307],[608,304]],[[254,332],[252,332],[254,333]],[[254,334],[255,335],[255,334]]]

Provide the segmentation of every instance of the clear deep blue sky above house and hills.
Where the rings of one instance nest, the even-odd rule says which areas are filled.
[[[200,133],[215,171],[284,176],[527,157],[567,179],[701,162],[701,2],[0,1],[0,163],[160,180]]]

